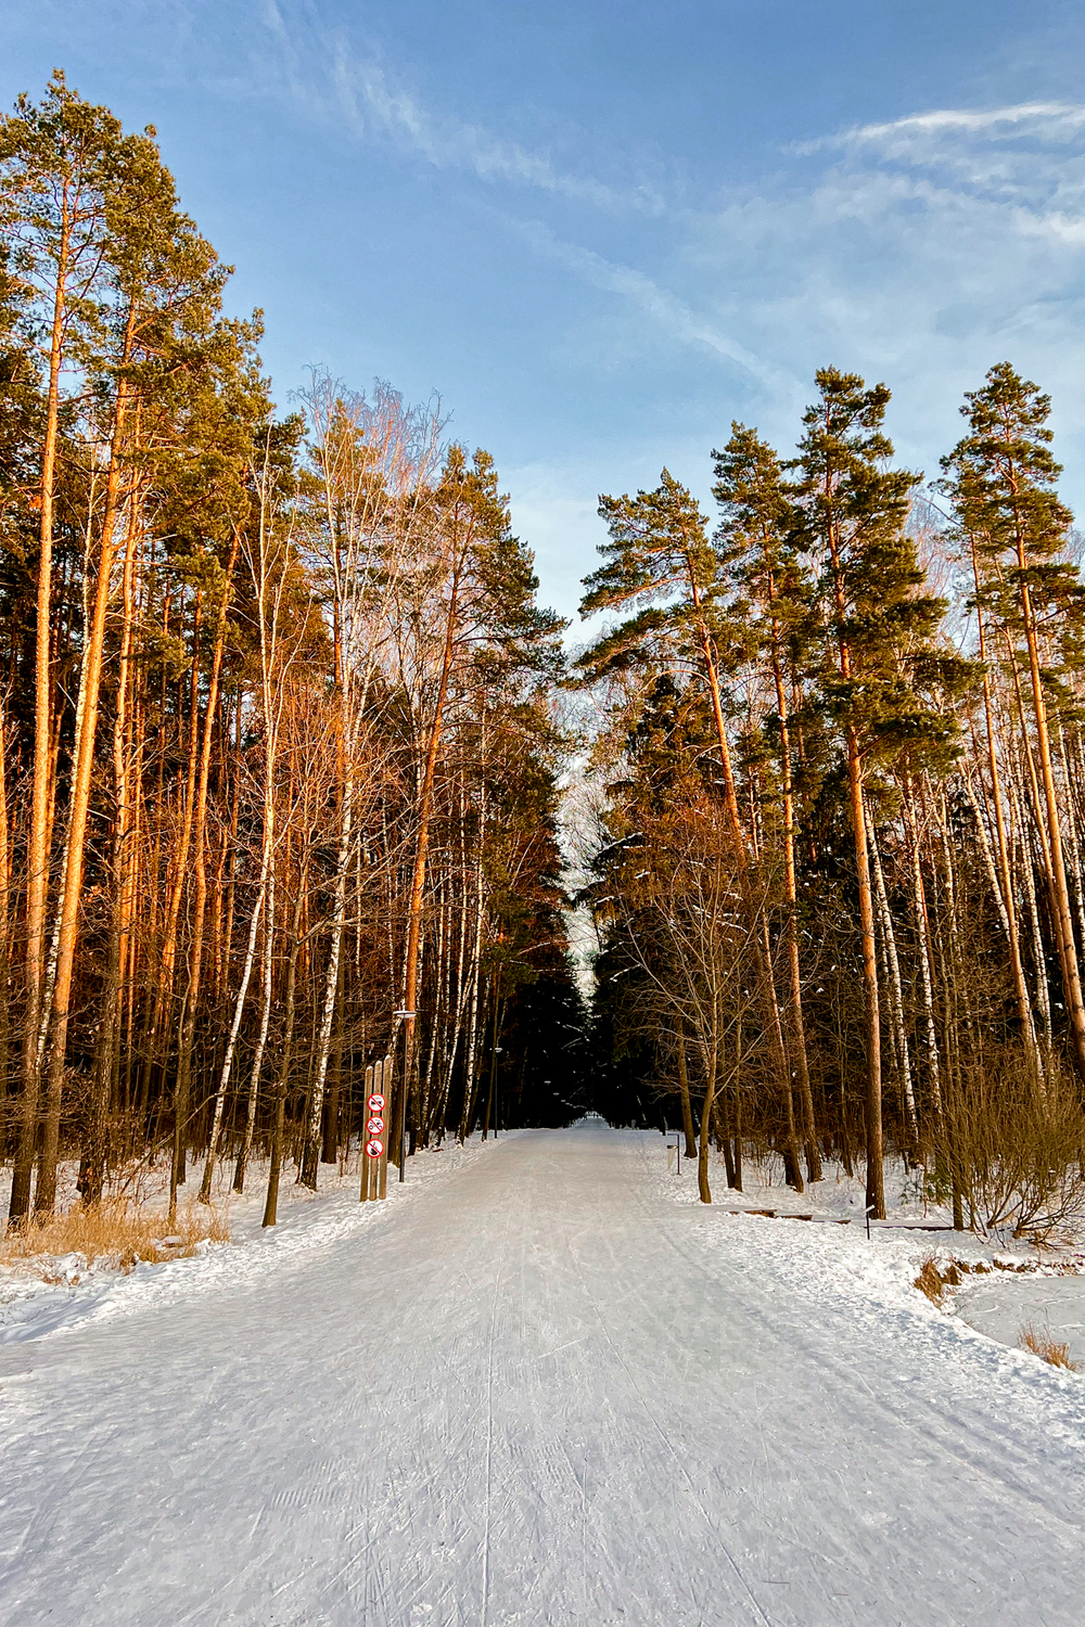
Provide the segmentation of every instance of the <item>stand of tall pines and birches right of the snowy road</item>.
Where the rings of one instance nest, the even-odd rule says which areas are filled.
[[[752,1145],[865,1168],[882,1215],[888,1147],[958,1224],[1044,1233],[1085,1141],[1077,539],[1012,366],[927,485],[888,400],[823,369],[786,459],[732,425],[714,524],[665,470],[602,499],[599,1101],[673,1092],[704,1199],[714,1141],[732,1186]]]

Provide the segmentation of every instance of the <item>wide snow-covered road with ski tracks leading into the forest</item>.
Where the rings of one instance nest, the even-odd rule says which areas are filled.
[[[503,1139],[3,1347],[0,1619],[1082,1627],[1085,1381],[649,1155]]]

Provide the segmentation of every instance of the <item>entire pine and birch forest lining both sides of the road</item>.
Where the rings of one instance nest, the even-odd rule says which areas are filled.
[[[153,129],[55,75],[0,122],[0,1095],[10,1219],[78,1165],[316,1186],[392,1059],[389,1158],[680,1126],[958,1227],[1085,1207],[1085,584],[1010,363],[935,472],[818,371],[714,513],[600,498],[566,651],[493,459],[314,371]],[[569,945],[594,926],[594,996]],[[711,1157],[711,1155],[716,1157]],[[286,1175],[285,1175],[286,1171]]]

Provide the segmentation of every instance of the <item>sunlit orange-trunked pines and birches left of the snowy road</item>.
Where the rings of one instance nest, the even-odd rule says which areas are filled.
[[[278,413],[155,132],[60,75],[0,122],[0,231],[13,1224],[60,1158],[94,1201],[257,1154],[273,1220],[386,1053],[410,1152],[566,1118],[563,623],[491,459],[384,386]]]

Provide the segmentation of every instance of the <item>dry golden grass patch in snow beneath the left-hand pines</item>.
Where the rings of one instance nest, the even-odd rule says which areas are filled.
[[[88,1264],[132,1271],[140,1261],[194,1254],[197,1245],[207,1240],[226,1243],[229,1228],[205,1204],[189,1204],[177,1215],[176,1227],[169,1228],[161,1212],[148,1214],[122,1197],[107,1197],[89,1207],[76,1204],[44,1222],[33,1220],[24,1232],[0,1238],[0,1266],[46,1267],[55,1256],[81,1254]],[[47,1269],[42,1276],[59,1280],[50,1279]]]

